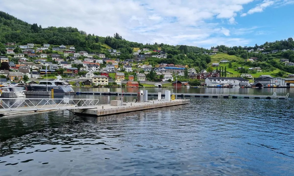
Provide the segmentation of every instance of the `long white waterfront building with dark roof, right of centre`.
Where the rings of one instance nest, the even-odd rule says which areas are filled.
[[[249,81],[242,77],[207,77],[205,79],[207,87],[216,87],[217,85],[246,86]]]

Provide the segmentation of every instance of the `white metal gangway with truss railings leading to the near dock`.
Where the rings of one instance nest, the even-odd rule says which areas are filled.
[[[0,111],[91,109],[99,99],[0,98]]]

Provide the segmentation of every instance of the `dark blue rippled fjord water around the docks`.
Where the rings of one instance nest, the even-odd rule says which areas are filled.
[[[191,97],[188,105],[98,118],[69,111],[1,117],[0,175],[294,175],[293,89],[177,91],[289,92],[290,98]],[[118,99],[70,97],[98,98],[101,103]]]

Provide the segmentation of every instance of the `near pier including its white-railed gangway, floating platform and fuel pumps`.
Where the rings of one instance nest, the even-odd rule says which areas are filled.
[[[166,91],[166,94],[170,94],[170,91]],[[143,94],[142,91],[138,99],[133,102],[111,100],[110,104],[98,104],[98,99],[69,99],[69,97],[63,99],[0,98],[0,116],[64,109],[79,115],[106,116],[190,103],[189,99],[174,99],[174,96],[161,99],[160,95],[157,94],[157,96],[158,99],[148,101],[148,92]]]

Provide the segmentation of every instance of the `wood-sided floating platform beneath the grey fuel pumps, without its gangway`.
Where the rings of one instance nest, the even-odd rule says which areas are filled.
[[[112,106],[111,104],[101,104],[94,109],[73,109],[75,114],[91,115],[91,116],[108,116],[113,114],[128,113],[133,111],[142,111],[146,109],[163,108],[168,106],[177,106],[189,104],[189,99],[175,100],[150,100],[141,103],[124,102],[123,106]]]

